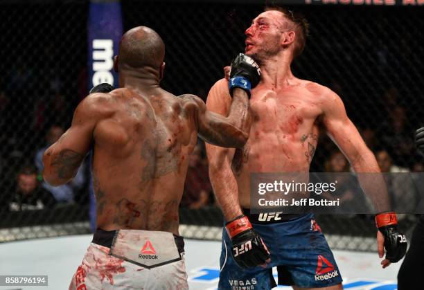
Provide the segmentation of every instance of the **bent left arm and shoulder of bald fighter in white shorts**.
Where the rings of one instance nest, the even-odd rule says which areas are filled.
[[[114,114],[107,105],[106,93],[94,93],[80,102],[73,114],[71,127],[44,154],[44,180],[51,185],[67,183],[76,175],[89,151],[93,132],[100,120]]]

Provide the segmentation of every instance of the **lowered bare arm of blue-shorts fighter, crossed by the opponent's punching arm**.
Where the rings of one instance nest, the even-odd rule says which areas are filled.
[[[230,111],[231,97],[227,80],[219,80],[209,91],[206,107],[222,116]],[[247,121],[249,123],[250,120]],[[238,185],[231,170],[235,149],[206,144],[209,160],[209,178],[216,198],[227,221],[242,214],[238,199]]]

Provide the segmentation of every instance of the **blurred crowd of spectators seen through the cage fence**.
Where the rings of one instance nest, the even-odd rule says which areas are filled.
[[[51,84],[54,87],[54,84]],[[337,90],[337,87],[334,88]],[[204,91],[204,90],[203,90]],[[204,98],[204,96],[202,96]],[[381,108],[387,119],[380,124],[358,128],[366,145],[373,151],[382,172],[423,172],[423,163],[414,149],[414,129],[408,123],[407,110],[398,105],[398,93],[391,88],[383,93]],[[60,138],[69,126],[72,108],[63,96],[53,93],[50,100],[35,102],[24,113],[10,114],[10,102],[13,100],[0,91],[0,127],[4,132],[0,156],[1,209],[4,211],[36,210],[52,208],[58,205],[89,202],[90,172],[85,161],[73,181],[66,185],[53,187],[42,179],[42,156],[48,146]],[[4,118],[7,116],[6,118]],[[17,132],[6,127],[24,125],[28,130]],[[0,128],[0,129],[1,129]],[[9,134],[8,134],[9,133]],[[40,138],[44,133],[44,138]],[[278,152],[276,152],[278,154]],[[343,208],[353,206],[353,201],[364,199],[364,194],[348,161],[337,146],[325,134],[321,135],[311,172],[350,172],[339,181],[337,198]],[[414,180],[405,174],[394,175],[387,179],[391,206],[405,212],[413,210],[418,195]],[[199,141],[191,154],[188,173],[184,186],[181,206],[198,209],[215,205],[213,190],[209,181],[208,162],[204,143]]]

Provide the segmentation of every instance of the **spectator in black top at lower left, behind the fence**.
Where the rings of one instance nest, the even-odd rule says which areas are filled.
[[[39,185],[35,167],[25,166],[19,171],[15,193],[9,203],[10,211],[53,208],[55,202],[51,193]]]

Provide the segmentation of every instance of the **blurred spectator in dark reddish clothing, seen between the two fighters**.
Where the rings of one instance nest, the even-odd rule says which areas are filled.
[[[202,158],[202,146],[197,144],[188,162],[186,183],[181,204],[184,207],[197,209],[210,204],[211,182],[208,167]]]

